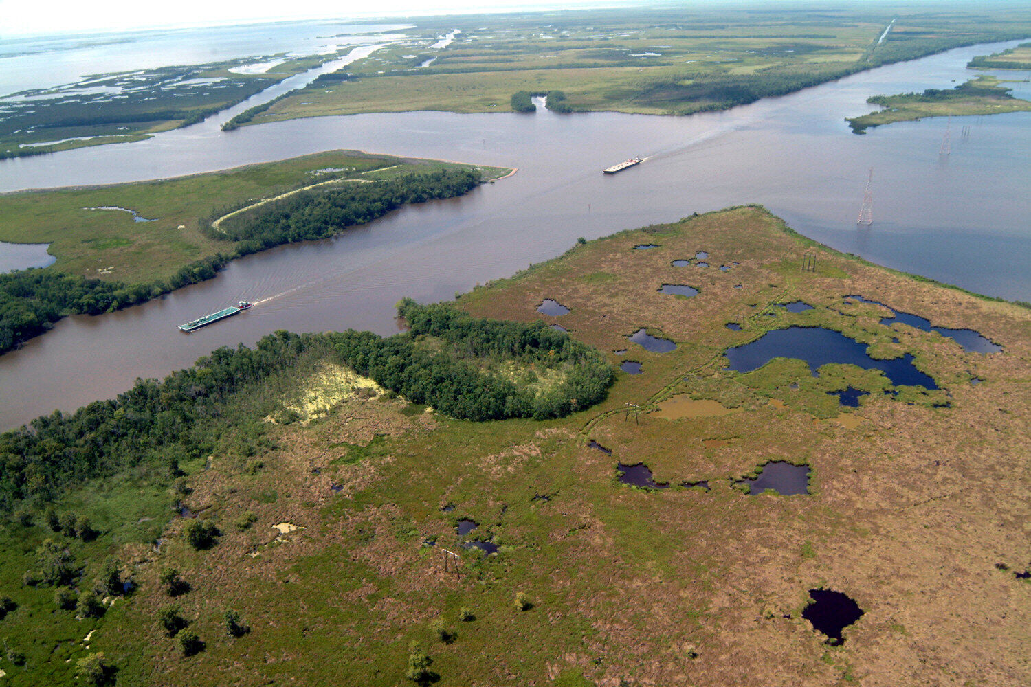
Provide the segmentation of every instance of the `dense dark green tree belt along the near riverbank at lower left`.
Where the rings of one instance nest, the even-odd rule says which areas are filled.
[[[137,379],[115,399],[0,434],[0,512],[42,507],[128,468],[166,471],[170,481],[179,460],[205,455],[222,432],[248,421],[226,413],[234,393],[287,369],[315,344],[320,335],[277,332],[253,349],[224,346],[163,381]]]

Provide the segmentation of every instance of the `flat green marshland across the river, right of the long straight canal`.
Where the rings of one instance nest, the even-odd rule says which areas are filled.
[[[623,8],[413,20],[410,38],[321,77],[254,124],[359,112],[576,110],[690,114],[784,95],[960,45],[1025,38],[1027,6]],[[896,20],[884,41],[885,29]],[[431,47],[462,27],[454,42]],[[415,57],[413,57],[415,56]],[[415,58],[432,57],[426,67]],[[532,104],[532,103],[531,103]]]

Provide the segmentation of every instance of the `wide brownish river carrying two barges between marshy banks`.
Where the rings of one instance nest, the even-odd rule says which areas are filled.
[[[548,260],[579,236],[742,203],[762,203],[802,234],[875,263],[1031,301],[1031,114],[925,119],[865,136],[843,122],[868,111],[871,95],[962,82],[971,57],[1013,44],[955,49],[690,117],[408,112],[230,133],[202,124],[139,143],[6,161],[0,191],[167,177],[335,148],[519,173],[332,240],[236,261],[215,279],[142,306],[66,318],[0,356],[0,427],[112,397],[136,377],[162,377],[277,329],[389,334],[403,296],[451,299]],[[1031,96],[1028,83],[1015,85]],[[951,153],[940,154],[946,127]],[[646,160],[601,174],[631,156]],[[870,168],[873,225],[857,228]],[[176,329],[243,298],[256,307],[191,335]]]

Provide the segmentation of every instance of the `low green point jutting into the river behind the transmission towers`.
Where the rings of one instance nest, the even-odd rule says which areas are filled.
[[[895,122],[911,122],[927,116],[962,116],[1031,111],[1031,102],[1013,98],[1009,89],[994,76],[975,76],[955,89],[928,89],[923,93],[870,96],[866,102],[885,107],[846,119],[854,134]]]

